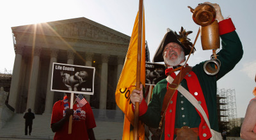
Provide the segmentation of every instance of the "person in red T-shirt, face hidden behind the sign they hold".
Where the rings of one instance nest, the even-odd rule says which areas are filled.
[[[52,108],[51,129],[55,132],[54,140],[95,139],[93,128],[96,127],[90,104],[83,95],[74,98],[70,109],[70,93],[62,101],[57,101]],[[72,133],[68,134],[68,121],[72,115]]]

